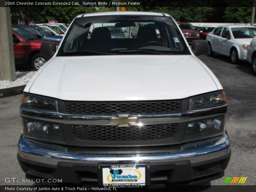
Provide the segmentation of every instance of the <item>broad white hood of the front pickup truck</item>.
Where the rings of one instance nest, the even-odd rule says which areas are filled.
[[[217,90],[206,70],[192,55],[56,57],[24,91],[81,101],[181,99]]]

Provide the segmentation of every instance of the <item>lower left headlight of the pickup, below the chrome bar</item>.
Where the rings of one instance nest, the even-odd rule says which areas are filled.
[[[65,144],[60,124],[22,118],[23,135],[29,138]]]

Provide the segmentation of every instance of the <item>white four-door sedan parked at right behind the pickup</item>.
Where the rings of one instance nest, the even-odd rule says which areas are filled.
[[[216,27],[206,37],[209,44],[208,55],[220,53],[230,57],[232,63],[239,60],[247,61],[247,49],[253,37],[256,36],[256,27],[245,25],[225,25]]]

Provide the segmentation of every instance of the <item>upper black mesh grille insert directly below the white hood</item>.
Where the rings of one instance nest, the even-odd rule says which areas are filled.
[[[114,115],[128,114],[163,114],[181,111],[182,100],[136,101],[136,102],[65,102],[66,113]]]

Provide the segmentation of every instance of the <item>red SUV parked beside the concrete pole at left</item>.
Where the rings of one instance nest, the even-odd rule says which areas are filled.
[[[12,27],[12,40],[14,48],[15,65],[26,65],[32,69],[39,69],[50,59],[40,52],[45,40],[39,40],[23,28]]]

